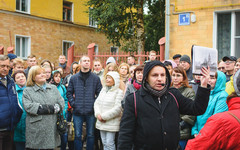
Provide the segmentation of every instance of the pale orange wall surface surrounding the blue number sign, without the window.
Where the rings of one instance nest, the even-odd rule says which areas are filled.
[[[170,3],[175,5],[175,12],[193,11],[196,15],[195,23],[179,26],[178,15],[173,15],[171,6],[170,58],[176,53],[190,56],[192,45],[213,47],[214,12],[240,9],[239,0],[171,0]]]

